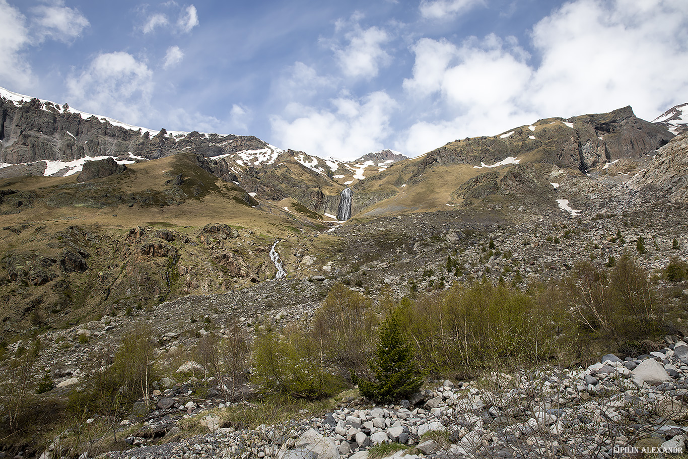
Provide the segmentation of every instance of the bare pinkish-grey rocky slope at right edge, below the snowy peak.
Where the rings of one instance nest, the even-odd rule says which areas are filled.
[[[657,189],[671,202],[688,203],[688,132],[660,148],[647,169],[629,184],[634,189]]]

